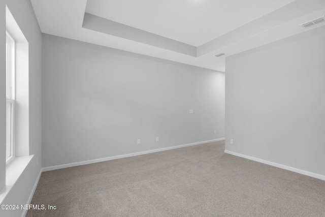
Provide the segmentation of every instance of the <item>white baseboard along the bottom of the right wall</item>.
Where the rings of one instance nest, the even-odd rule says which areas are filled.
[[[271,161],[266,161],[266,160],[263,160],[263,159],[254,158],[254,157],[247,156],[245,154],[237,153],[237,152],[234,152],[234,151],[224,150],[224,152],[232,154],[234,156],[241,157],[241,158],[246,158],[246,159],[249,159],[249,160],[252,160],[252,161],[256,161],[256,162],[259,162],[259,163],[268,164],[268,165],[278,167],[278,168],[281,168],[281,169],[285,169],[285,170],[293,171],[293,172],[300,173],[300,174],[303,174],[303,175],[308,175],[308,176],[311,176],[311,177],[314,177],[314,178],[318,178],[318,179],[321,179],[321,180],[325,180],[325,175],[321,175],[321,174],[318,174],[318,173],[313,173],[313,172],[309,172],[309,171],[306,171],[306,170],[301,170],[301,169],[297,169],[297,168],[294,168],[294,167],[289,167],[289,166],[286,166],[286,165],[283,165],[283,164],[278,164],[278,163],[274,163],[274,162],[271,162]]]

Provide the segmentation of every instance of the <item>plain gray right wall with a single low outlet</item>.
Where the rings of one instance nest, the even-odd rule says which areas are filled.
[[[325,175],[324,39],[322,26],[226,58],[226,150]]]

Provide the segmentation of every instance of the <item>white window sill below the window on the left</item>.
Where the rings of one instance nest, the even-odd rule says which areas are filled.
[[[23,173],[34,154],[24,157],[15,157],[6,167],[6,186],[0,192],[0,204],[4,201],[10,190]]]

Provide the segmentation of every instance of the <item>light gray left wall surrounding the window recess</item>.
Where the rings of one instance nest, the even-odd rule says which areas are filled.
[[[36,181],[37,175],[41,169],[41,142],[42,142],[42,127],[41,127],[41,73],[42,73],[42,34],[38,25],[34,10],[32,9],[29,0],[0,0],[0,95],[2,103],[0,106],[0,184],[3,184],[5,157],[5,115],[6,115],[6,62],[5,62],[5,34],[6,34],[6,4],[22,30],[25,38],[29,43],[29,154],[35,154],[35,158],[27,166],[27,172],[24,172],[14,187],[11,189],[3,204],[24,204],[31,192]],[[38,165],[36,158],[39,159]],[[0,185],[1,188],[1,185]],[[21,191],[24,189],[24,191]],[[12,199],[15,199],[13,201]],[[11,212],[11,216],[20,216],[22,210]],[[1,213],[0,213],[1,215]],[[5,216],[5,215],[4,215]]]

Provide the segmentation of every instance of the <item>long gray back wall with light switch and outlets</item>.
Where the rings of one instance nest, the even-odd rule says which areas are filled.
[[[42,82],[43,167],[224,137],[221,72],[43,35]]]

